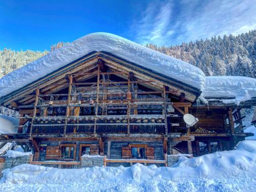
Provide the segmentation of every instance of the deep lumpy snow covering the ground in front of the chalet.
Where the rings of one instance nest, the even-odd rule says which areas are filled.
[[[0,191],[256,191],[256,141],[173,167],[57,169],[24,164],[3,172]]]

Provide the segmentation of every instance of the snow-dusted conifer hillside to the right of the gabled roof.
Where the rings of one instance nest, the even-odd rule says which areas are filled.
[[[207,76],[256,77],[256,30],[238,36],[224,35],[178,46],[146,45],[199,67]]]

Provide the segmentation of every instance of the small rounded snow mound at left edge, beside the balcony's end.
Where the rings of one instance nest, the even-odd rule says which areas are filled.
[[[0,115],[0,134],[17,133],[18,119]]]

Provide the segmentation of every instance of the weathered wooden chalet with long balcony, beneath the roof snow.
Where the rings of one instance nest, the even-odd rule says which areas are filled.
[[[200,94],[140,63],[93,51],[1,97],[1,105],[20,117],[17,134],[1,135],[0,142],[28,146],[35,164],[73,166],[87,154],[116,159],[111,166],[127,166],[131,159],[150,163],[164,154],[231,150],[250,135],[243,133],[240,112],[254,100],[207,106],[197,102]],[[199,119],[190,128],[183,120],[187,113]]]

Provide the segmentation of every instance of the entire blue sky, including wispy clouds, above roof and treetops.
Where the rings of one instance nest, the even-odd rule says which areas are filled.
[[[255,13],[256,0],[1,1],[0,50],[49,50],[93,32],[177,45],[256,29]]]

